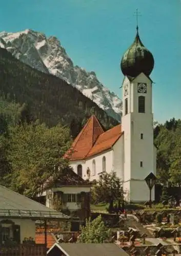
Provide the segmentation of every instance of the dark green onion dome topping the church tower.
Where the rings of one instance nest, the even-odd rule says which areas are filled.
[[[124,75],[136,77],[140,73],[149,76],[154,67],[152,53],[145,48],[139,38],[138,27],[133,44],[125,52],[120,62],[120,69]]]

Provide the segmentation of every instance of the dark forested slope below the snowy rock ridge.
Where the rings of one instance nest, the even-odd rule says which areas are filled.
[[[24,107],[33,120],[39,119],[48,126],[68,125],[73,137],[93,113],[105,129],[117,124],[76,88],[60,78],[32,69],[2,48],[0,95],[4,102],[25,103]]]

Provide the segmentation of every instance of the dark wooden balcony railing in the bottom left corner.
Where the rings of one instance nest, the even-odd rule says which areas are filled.
[[[16,246],[0,246],[1,256],[46,256],[44,244],[21,244]]]

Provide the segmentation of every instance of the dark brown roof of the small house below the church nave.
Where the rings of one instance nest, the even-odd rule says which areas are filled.
[[[73,172],[72,168],[68,167],[62,170],[59,177],[53,181],[53,178],[50,177],[47,182],[44,184],[44,188],[51,186],[91,186],[91,183],[87,180],[84,180]]]

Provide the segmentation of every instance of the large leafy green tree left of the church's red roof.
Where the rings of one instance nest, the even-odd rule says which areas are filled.
[[[47,178],[58,176],[68,166],[63,156],[70,146],[69,130],[61,125],[23,123],[11,128],[8,159],[11,187],[33,197]],[[55,168],[59,166],[59,168]]]

